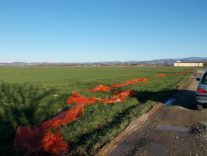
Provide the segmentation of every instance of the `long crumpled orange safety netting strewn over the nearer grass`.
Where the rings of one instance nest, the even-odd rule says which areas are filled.
[[[127,80],[123,84],[113,84],[111,87],[99,85],[94,87],[91,91],[108,92],[113,88],[118,88],[126,85],[137,84],[138,82],[148,82],[147,78],[137,78]],[[48,152],[51,154],[61,155],[69,150],[61,134],[53,134],[51,129],[58,129],[61,125],[69,124],[79,117],[83,116],[84,106],[92,105],[95,102],[102,102],[103,104],[112,104],[123,102],[128,96],[131,96],[133,91],[115,91],[112,98],[96,98],[85,97],[78,92],[72,92],[71,96],[67,99],[67,104],[76,104],[69,110],[58,114],[50,120],[42,122],[35,126],[18,127],[16,129],[16,136],[14,147],[17,150],[23,150],[31,153]]]

